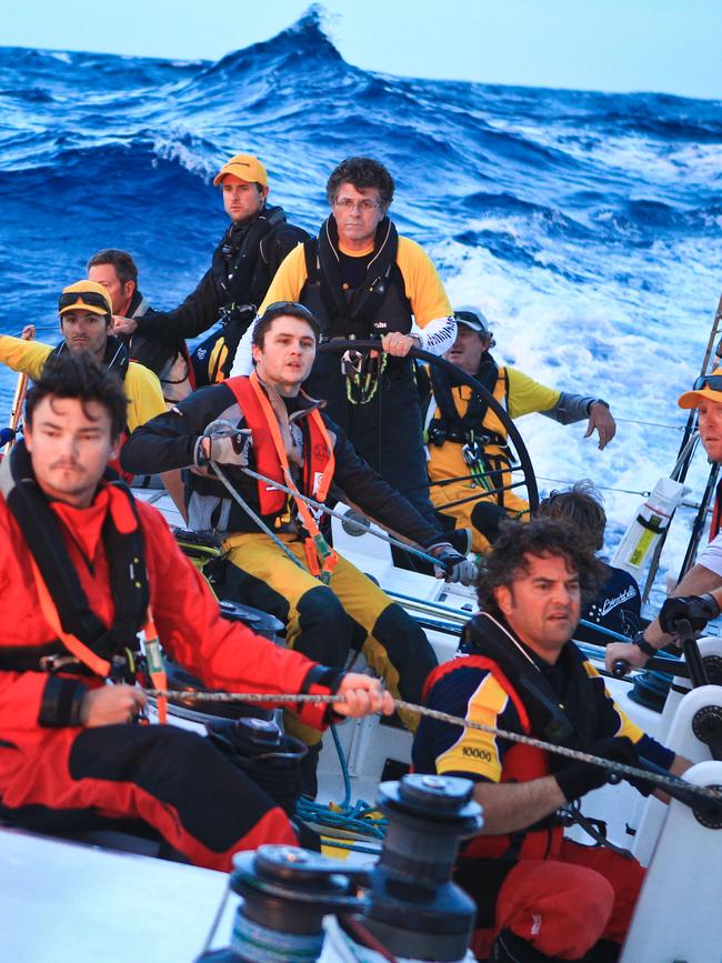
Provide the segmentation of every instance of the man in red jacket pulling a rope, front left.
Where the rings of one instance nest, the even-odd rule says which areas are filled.
[[[91,355],[50,359],[28,395],[26,441],[0,467],[0,811],[49,829],[74,813],[143,820],[193,863],[228,870],[238,850],[294,844],[293,827],[207,740],[133,724],[146,701],[129,684],[139,630],[152,618],[205,684],[268,692],[269,704],[338,692],[334,712],[364,715],[392,702],[368,676],[220,618],[162,516],[103,478],[126,407]],[[327,706],[299,714],[322,728]]]

